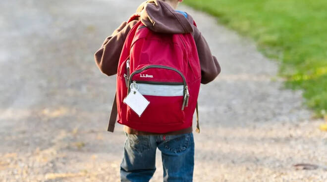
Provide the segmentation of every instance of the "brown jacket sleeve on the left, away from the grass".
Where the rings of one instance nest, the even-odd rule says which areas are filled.
[[[137,20],[128,24],[123,22],[94,54],[95,62],[102,73],[108,76],[117,73],[118,61],[126,36],[136,23]]]

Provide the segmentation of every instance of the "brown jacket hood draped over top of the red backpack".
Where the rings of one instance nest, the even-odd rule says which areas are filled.
[[[142,23],[150,30],[158,33],[185,34],[192,33],[193,18],[187,18],[175,11],[169,4],[161,0],[147,0],[137,9]]]

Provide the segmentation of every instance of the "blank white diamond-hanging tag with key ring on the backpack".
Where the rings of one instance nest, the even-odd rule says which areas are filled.
[[[141,117],[150,102],[138,91],[139,88],[137,84],[132,83],[130,89],[129,94],[125,97],[123,102]]]

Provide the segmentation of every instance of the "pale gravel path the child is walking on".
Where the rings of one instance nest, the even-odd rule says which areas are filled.
[[[93,53],[140,2],[0,1],[0,182],[119,182],[125,136],[119,125],[106,132],[115,78]],[[194,181],[326,181],[322,121],[310,119],[300,91],[283,88],[276,62],[214,18],[181,9],[222,67],[201,88]],[[162,181],[157,161],[151,182]]]

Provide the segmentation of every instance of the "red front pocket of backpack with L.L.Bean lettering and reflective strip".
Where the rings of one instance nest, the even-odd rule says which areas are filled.
[[[146,125],[184,122],[188,87],[178,70],[161,65],[145,66],[131,74],[128,89],[135,87],[150,104],[141,116],[127,106],[127,121]]]

